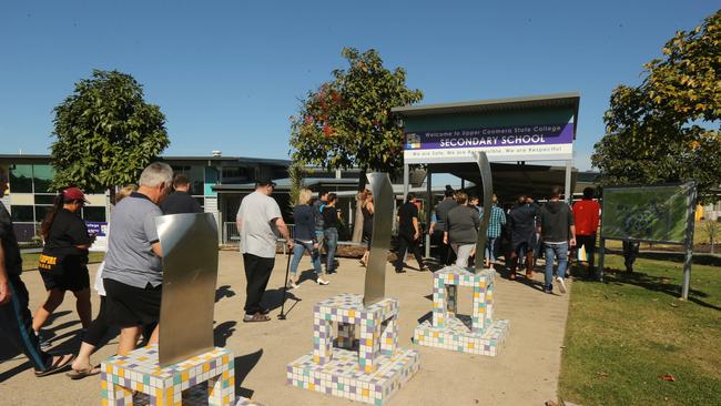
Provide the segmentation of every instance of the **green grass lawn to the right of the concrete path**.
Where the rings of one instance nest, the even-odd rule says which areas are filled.
[[[721,267],[607,256],[606,282],[575,281],[559,383],[588,405],[721,405]],[[674,382],[659,376],[671,375]]]

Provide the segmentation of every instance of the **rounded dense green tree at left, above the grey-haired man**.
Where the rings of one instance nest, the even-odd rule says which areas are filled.
[[[92,78],[54,108],[52,187],[85,191],[138,182],[142,170],[169,144],[165,116],[148,104],[130,74],[94,70]]]

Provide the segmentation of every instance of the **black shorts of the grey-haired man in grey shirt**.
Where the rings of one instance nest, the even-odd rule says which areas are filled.
[[[135,287],[103,278],[109,324],[120,328],[144,326],[160,319],[163,285]]]

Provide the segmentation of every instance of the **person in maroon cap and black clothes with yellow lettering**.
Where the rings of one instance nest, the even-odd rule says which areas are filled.
[[[88,248],[92,245],[94,236],[88,234],[85,222],[80,217],[84,204],[83,192],[78,187],[68,187],[55,196],[55,204],[40,226],[45,244],[38,268],[48,291],[48,298],[40,305],[32,319],[32,329],[38,335],[64,300],[67,291],[75,296],[75,308],[83,331],[92,322]],[[43,342],[42,338],[40,341]]]

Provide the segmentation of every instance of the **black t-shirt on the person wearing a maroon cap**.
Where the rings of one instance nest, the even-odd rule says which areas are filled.
[[[85,222],[73,212],[60,209],[50,225],[43,251],[49,254],[64,255],[65,265],[87,263],[88,250],[80,250],[75,245],[90,245],[91,242]]]

